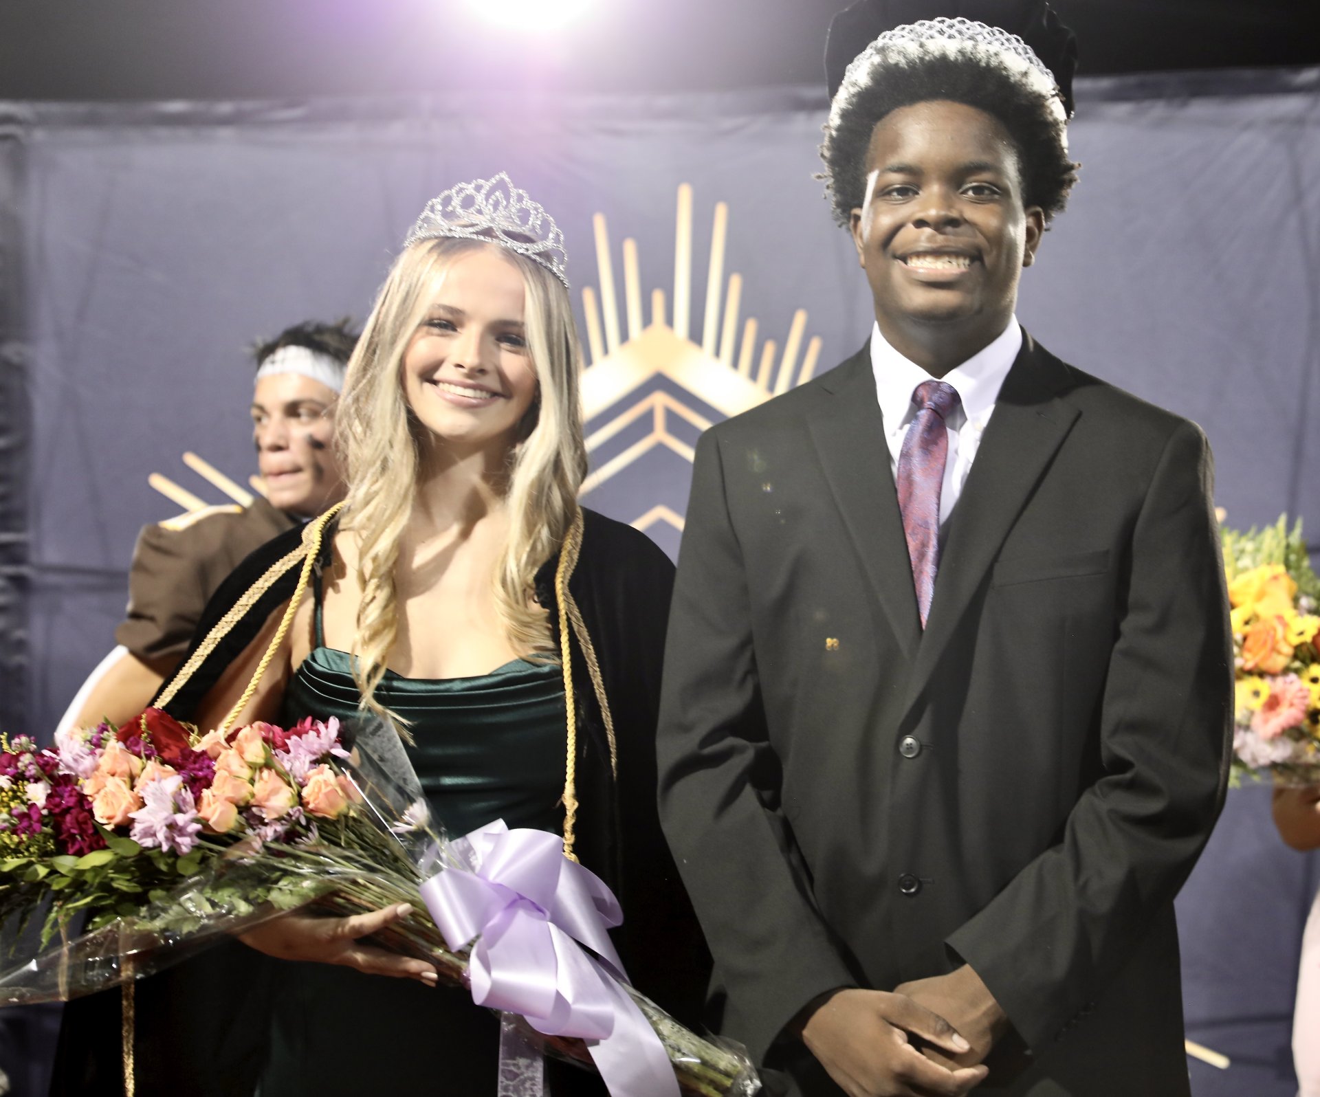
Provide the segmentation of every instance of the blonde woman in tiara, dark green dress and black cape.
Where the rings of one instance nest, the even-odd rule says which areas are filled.
[[[504,176],[429,203],[348,366],[343,510],[319,545],[313,525],[246,561],[198,638],[244,594],[255,603],[161,700],[203,727],[240,701],[230,726],[393,719],[445,829],[503,818],[562,833],[619,896],[635,985],[694,1023],[705,947],[655,808],[673,568],[638,531],[577,504],[578,372],[562,236],[540,206]],[[313,581],[294,599],[308,553]],[[437,989],[430,965],[362,940],[397,916],[294,914],[244,936],[305,961],[272,965],[263,983],[263,1094],[495,1092],[496,1018]],[[137,1059],[143,1097],[152,1067]],[[552,1067],[549,1084],[603,1092],[570,1067]]]

